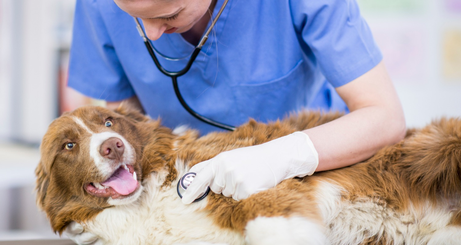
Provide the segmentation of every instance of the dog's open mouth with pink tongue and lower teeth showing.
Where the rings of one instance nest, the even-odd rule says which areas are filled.
[[[136,172],[131,165],[121,165],[111,177],[104,182],[91,182],[86,185],[89,194],[97,197],[124,198],[139,187]]]

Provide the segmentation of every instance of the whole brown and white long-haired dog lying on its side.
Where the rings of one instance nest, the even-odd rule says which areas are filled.
[[[460,244],[460,119],[408,131],[366,162],[285,180],[241,201],[210,193],[183,205],[177,195],[179,178],[198,162],[339,116],[251,120],[198,137],[125,108],[78,108],[43,138],[37,202],[54,231],[76,221],[106,244]]]

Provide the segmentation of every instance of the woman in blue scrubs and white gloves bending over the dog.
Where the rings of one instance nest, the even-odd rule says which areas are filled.
[[[77,0],[69,86],[105,99],[109,108],[125,100],[169,127],[188,125],[202,134],[219,130],[181,106],[133,17],[161,65],[177,71],[223,3]],[[382,58],[355,0],[229,0],[190,70],[177,79],[190,108],[235,126],[304,108],[347,114],[195,165],[191,171],[197,176],[183,203],[207,186],[244,199],[287,178],[352,165],[398,142],[405,120]]]

